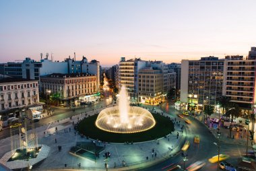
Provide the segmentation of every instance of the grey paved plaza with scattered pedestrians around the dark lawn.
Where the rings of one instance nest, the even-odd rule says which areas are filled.
[[[156,112],[162,114],[162,110],[156,108]],[[88,115],[94,114],[93,111],[87,112]],[[165,113],[166,114],[166,113]],[[73,156],[69,153],[71,147],[75,146],[77,141],[93,141],[86,137],[81,137],[78,133],[75,133],[73,129],[73,123],[77,123],[78,119],[84,118],[85,113],[77,114],[70,118],[65,118],[62,121],[49,123],[38,127],[36,132],[38,133],[38,143],[47,145],[51,148],[48,158],[43,162],[33,166],[36,170],[63,170],[63,169],[85,169],[86,170],[105,170],[105,158],[104,153],[109,151],[111,153],[108,160],[108,168],[129,170],[136,167],[148,166],[155,162],[160,162],[168,156],[173,156],[181,149],[185,141],[185,131],[182,133],[181,129],[175,125],[174,133],[162,137],[158,140],[133,143],[133,144],[120,144],[120,143],[98,143],[102,145],[104,151],[100,153],[100,157],[96,162]],[[174,119],[174,116],[170,116],[170,119]],[[57,131],[56,131],[57,127]],[[177,131],[179,131],[179,138],[177,139]],[[55,140],[56,139],[56,140]],[[100,140],[100,137],[98,137]],[[1,150],[0,157],[10,151],[10,138],[2,139],[0,141]],[[58,147],[61,145],[61,151]],[[154,152],[152,153],[154,149]],[[125,166],[123,166],[125,162]],[[4,164],[4,163],[3,163]],[[66,164],[66,167],[65,167]]]

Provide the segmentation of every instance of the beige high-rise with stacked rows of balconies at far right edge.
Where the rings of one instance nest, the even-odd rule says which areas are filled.
[[[255,104],[255,65],[256,60],[243,56],[226,56],[223,95],[243,108]]]

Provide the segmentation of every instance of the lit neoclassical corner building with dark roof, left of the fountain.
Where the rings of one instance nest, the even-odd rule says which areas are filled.
[[[98,102],[97,76],[88,73],[53,73],[40,77],[42,92],[59,94],[61,104],[79,105],[80,102]]]

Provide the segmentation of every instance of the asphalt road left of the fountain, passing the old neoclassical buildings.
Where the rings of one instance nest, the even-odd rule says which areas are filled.
[[[58,120],[60,121],[63,118],[69,118],[70,116],[80,114],[82,112],[88,112],[91,110],[94,110],[95,112],[99,112],[101,106],[106,106],[111,103],[112,103],[112,98],[109,98],[109,99],[102,100],[97,104],[93,104],[92,106],[86,106],[86,108],[84,107],[75,108],[75,112],[72,112],[73,108],[69,109],[69,108],[52,107],[52,109],[54,110],[53,115],[48,118],[42,118],[40,121],[34,123],[34,125],[35,127],[41,127],[42,125],[46,125],[52,122],[54,123],[55,121],[58,121]],[[4,139],[9,136],[10,136],[9,128],[4,129],[3,131],[0,132],[0,139]]]

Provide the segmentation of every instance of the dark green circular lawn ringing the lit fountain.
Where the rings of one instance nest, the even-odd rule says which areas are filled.
[[[110,142],[110,143],[125,143],[125,142],[143,142],[158,139],[168,135],[170,132],[174,131],[174,125],[172,121],[166,116],[160,114],[152,114],[156,120],[156,125],[148,131],[143,131],[140,133],[110,133],[98,129],[95,125],[96,118],[98,114],[84,118],[77,125],[77,131],[80,134],[85,135],[91,139],[98,139],[100,141]]]

